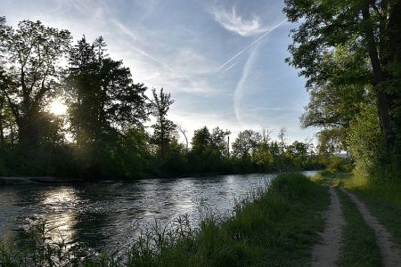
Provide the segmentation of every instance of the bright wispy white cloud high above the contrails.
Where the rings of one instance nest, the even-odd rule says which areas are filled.
[[[258,16],[253,15],[251,20],[244,20],[235,12],[235,6],[231,11],[217,9],[215,7],[210,12],[221,26],[229,31],[239,34],[240,36],[252,36],[266,31],[266,28],[262,28]]]

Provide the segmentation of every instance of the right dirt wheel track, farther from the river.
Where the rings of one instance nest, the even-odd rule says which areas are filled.
[[[344,190],[342,188],[341,190],[344,191],[356,204],[359,212],[364,216],[364,221],[374,231],[377,243],[381,250],[381,257],[384,266],[401,266],[401,250],[399,247],[397,247],[397,244],[392,241],[392,237],[389,231],[387,231],[387,229],[384,228],[381,223],[379,223],[377,218],[369,212],[364,203],[359,201],[356,196],[349,193],[347,190]]]

